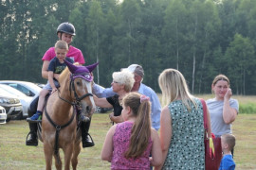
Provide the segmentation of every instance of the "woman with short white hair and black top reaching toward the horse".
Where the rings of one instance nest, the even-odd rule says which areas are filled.
[[[113,108],[114,113],[110,113],[109,118],[115,123],[120,123],[123,122],[122,117],[120,116],[122,110],[121,101],[122,98],[132,90],[135,78],[134,74],[125,70],[121,72],[114,72],[112,77],[113,81],[111,86],[113,88],[113,92],[118,94],[107,98],[98,98],[94,95],[93,98],[97,106],[101,108]]]

